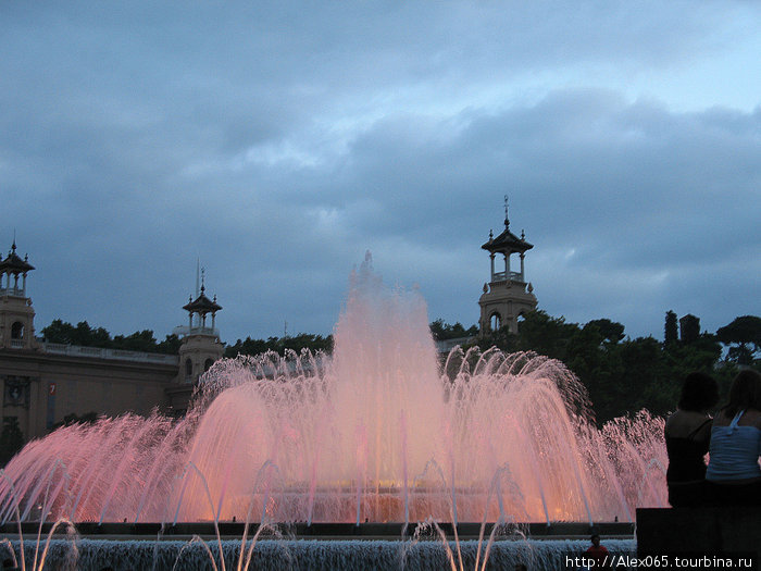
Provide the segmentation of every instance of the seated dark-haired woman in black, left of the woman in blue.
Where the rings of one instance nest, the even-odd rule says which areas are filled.
[[[669,504],[675,508],[708,502],[703,457],[711,439],[709,411],[718,401],[719,385],[714,378],[704,373],[690,373],[682,385],[676,412],[666,420],[666,485]]]

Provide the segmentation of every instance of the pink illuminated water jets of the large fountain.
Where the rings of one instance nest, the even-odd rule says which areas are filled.
[[[182,421],[126,415],[28,444],[0,521],[629,521],[665,505],[663,422],[597,430],[532,353],[438,361],[424,301],[366,261],[323,355],[217,362]],[[12,482],[12,485],[11,485]]]

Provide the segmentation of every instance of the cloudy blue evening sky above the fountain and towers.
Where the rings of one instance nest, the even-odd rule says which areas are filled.
[[[490,229],[539,309],[761,314],[761,4],[2,2],[0,251],[37,333],[332,333],[370,251],[477,323]]]

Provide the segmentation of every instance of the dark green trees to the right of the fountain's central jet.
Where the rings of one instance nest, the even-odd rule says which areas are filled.
[[[632,339],[624,325],[608,319],[582,325],[533,311],[516,334],[502,328],[472,344],[562,361],[586,386],[596,420],[603,423],[643,408],[658,415],[674,410],[682,380],[693,371],[713,375],[725,398],[740,367],[761,370],[761,318],[740,316],[715,333],[700,333],[699,320],[689,318],[679,336],[676,314],[666,312],[661,343],[652,336]]]

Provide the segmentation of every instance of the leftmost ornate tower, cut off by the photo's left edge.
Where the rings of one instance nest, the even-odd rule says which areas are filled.
[[[28,256],[22,260],[16,255],[14,239],[8,257],[4,260],[0,258],[0,348],[38,347],[35,340],[35,310],[26,295],[26,274],[34,269]]]

